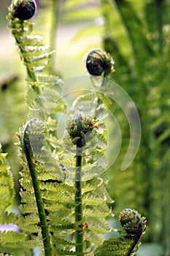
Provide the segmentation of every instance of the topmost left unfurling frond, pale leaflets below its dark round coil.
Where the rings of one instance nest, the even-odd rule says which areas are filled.
[[[47,75],[47,67],[53,51],[48,45],[42,44],[42,37],[35,35],[33,31],[34,23],[26,18],[20,18],[17,12],[23,12],[20,5],[30,11],[29,4],[35,4],[31,1],[12,1],[9,7],[9,29],[15,37],[16,44],[20,50],[20,57],[26,66],[28,74],[28,92],[26,102],[28,104],[28,116],[37,116],[47,118],[50,110],[63,112],[66,110],[65,102],[60,99],[62,82],[55,75]],[[19,10],[18,10],[19,9]],[[25,12],[23,12],[23,15]],[[42,74],[43,72],[43,74]],[[51,112],[53,112],[51,110]],[[32,113],[32,114],[31,114]]]

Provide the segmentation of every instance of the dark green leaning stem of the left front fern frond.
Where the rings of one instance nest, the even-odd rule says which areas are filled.
[[[26,161],[28,162],[28,168],[31,174],[31,179],[34,187],[34,193],[36,197],[36,206],[39,213],[39,221],[42,229],[42,240],[45,248],[45,256],[52,256],[52,247],[50,244],[50,233],[47,226],[47,218],[45,214],[45,208],[43,207],[42,195],[39,189],[39,181],[36,176],[35,164],[33,162],[33,152],[29,142],[28,125],[23,132],[23,151],[26,154]]]

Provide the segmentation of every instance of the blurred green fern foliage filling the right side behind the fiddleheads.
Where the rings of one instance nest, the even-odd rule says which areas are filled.
[[[121,124],[123,147],[110,172],[115,210],[126,205],[138,208],[148,219],[147,240],[161,243],[164,255],[169,255],[170,4],[169,1],[102,3],[104,47],[115,59],[113,79],[136,103],[142,123],[139,152],[125,172],[120,172],[119,161],[125,154],[123,148],[128,146],[128,124]]]

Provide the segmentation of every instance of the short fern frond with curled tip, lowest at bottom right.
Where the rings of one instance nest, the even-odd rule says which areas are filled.
[[[139,248],[140,240],[146,230],[146,220],[134,210],[125,208],[119,217],[123,230],[120,237],[104,241],[102,246],[96,249],[95,256],[133,256]]]

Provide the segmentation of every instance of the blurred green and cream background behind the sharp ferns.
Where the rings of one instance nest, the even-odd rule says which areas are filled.
[[[7,29],[7,6],[0,2],[0,141],[8,153],[18,193],[20,159],[16,132],[27,119],[26,70]],[[170,255],[170,2],[169,0],[39,0],[36,34],[53,45],[53,72],[61,78],[87,74],[85,56],[102,48],[115,59],[112,79],[136,104],[142,123],[138,154],[127,170],[120,166],[129,143],[128,121],[114,105],[122,147],[109,169],[108,190],[115,200],[113,226],[123,208],[147,217],[138,255]],[[111,140],[114,143],[114,132]],[[18,198],[19,201],[19,198]]]

